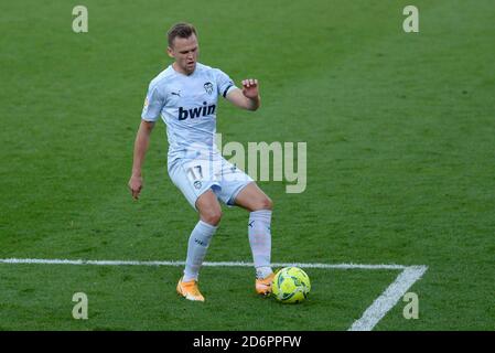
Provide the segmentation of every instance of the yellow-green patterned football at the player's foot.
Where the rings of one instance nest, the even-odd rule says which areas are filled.
[[[310,277],[299,267],[284,267],[273,277],[272,293],[282,303],[304,301],[310,290]]]

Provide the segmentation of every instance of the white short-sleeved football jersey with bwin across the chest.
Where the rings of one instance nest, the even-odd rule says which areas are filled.
[[[215,145],[218,96],[235,88],[218,68],[196,63],[191,75],[172,65],[153,78],[148,88],[141,118],[157,121],[161,116],[169,138],[169,167],[181,158],[211,159],[219,152]]]

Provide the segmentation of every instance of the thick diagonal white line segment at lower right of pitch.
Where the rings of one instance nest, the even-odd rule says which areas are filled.
[[[408,266],[396,280],[379,296],[363,317],[356,320],[347,331],[372,331],[373,328],[394,308],[427,271],[427,266]]]

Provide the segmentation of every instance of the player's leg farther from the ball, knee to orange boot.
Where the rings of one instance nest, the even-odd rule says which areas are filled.
[[[184,276],[179,280],[177,293],[189,300],[204,301],[197,286],[200,269],[203,265],[209,242],[222,218],[222,208],[216,195],[208,190],[196,200],[200,222],[191,233],[187,244]]]

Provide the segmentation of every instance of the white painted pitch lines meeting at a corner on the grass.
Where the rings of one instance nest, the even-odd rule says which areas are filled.
[[[0,264],[41,264],[41,265],[97,265],[97,266],[184,266],[185,261],[131,261],[131,260],[84,260],[84,259],[42,259],[42,258],[1,258]],[[252,267],[252,263],[220,261],[203,263],[212,267]],[[396,280],[366,309],[348,331],[372,331],[373,328],[394,308],[407,290],[427,271],[427,266],[403,265],[362,265],[362,264],[304,264],[278,263],[272,267],[297,266],[301,268],[326,269],[395,269],[401,270]]]

